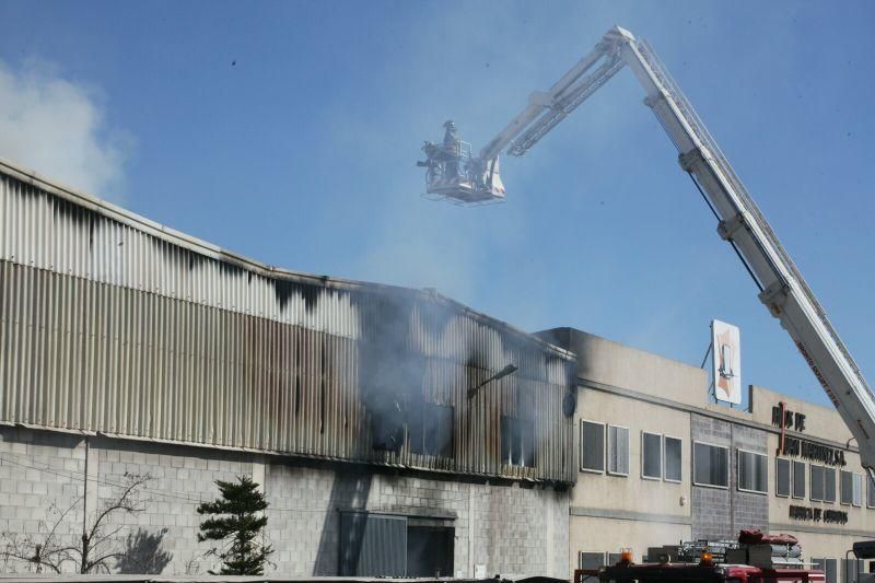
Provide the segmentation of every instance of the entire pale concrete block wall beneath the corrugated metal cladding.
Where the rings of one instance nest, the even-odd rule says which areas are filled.
[[[475,565],[489,574],[568,575],[568,492],[25,429],[0,428],[0,533],[37,536],[54,522],[47,514],[51,504],[78,504],[62,528],[75,543],[85,506],[90,524],[95,511],[117,500],[129,476],[147,475],[151,480],[139,498],[145,510],[114,514],[106,526],[120,527],[122,548],[138,533],[143,548],[156,544],[167,560],[164,574],[215,567],[203,556],[209,545],[197,541],[197,505],[218,495],[214,480],[252,475],[270,503],[266,539],[276,550],[271,572],[278,575],[337,574],[340,509],[452,526],[454,570],[465,576]],[[28,568],[0,562],[10,572]]]

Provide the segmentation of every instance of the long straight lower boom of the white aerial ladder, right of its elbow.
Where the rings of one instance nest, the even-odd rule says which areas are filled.
[[[768,221],[653,49],[621,28],[621,55],[679,151],[681,167],[718,214],[730,242],[760,287],[760,301],[790,334],[842,420],[863,465],[875,468],[875,398],[844,343]]]

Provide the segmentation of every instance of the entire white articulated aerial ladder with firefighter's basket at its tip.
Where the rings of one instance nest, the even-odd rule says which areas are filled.
[[[504,186],[499,154],[522,156],[595,91],[629,67],[644,88],[649,106],[679,152],[680,167],[718,219],[726,241],[759,288],[759,299],[790,334],[817,382],[856,440],[860,458],[875,477],[875,398],[860,368],[827,319],[820,303],[750,198],[689,101],[650,45],[619,26],[528,105],[477,156],[445,137],[425,142],[427,195],[458,205],[501,201]],[[447,123],[451,124],[451,123]],[[446,126],[446,125],[445,125]],[[455,126],[452,126],[455,132]],[[875,549],[873,550],[875,555]]]

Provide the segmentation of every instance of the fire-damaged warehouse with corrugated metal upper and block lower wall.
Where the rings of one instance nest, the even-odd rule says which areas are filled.
[[[277,574],[567,574],[575,361],[533,335],[258,264],[11,163],[0,323],[7,541],[63,509],[75,540],[149,476],[120,534],[202,573],[196,508],[245,474]]]

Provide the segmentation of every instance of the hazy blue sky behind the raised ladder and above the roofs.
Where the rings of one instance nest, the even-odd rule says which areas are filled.
[[[419,197],[445,119],[479,148],[620,24],[875,371],[871,2],[3,0],[0,19],[2,158],[272,265],[435,287],[528,330],[698,365],[724,319],[745,384],[827,404],[628,70],[504,161],[505,205]]]

